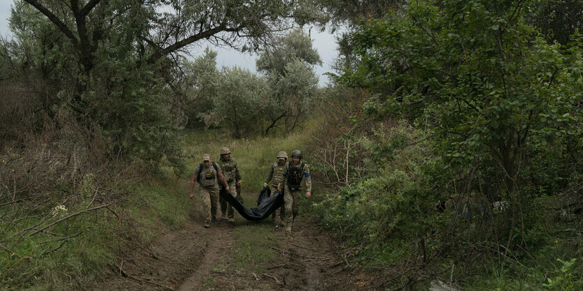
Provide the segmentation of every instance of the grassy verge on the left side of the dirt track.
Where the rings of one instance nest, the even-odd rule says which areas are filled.
[[[103,185],[89,188],[98,193],[99,186]],[[55,224],[22,241],[22,236],[16,235],[3,242],[0,290],[77,289],[115,265],[117,255],[130,244],[148,244],[163,228],[179,227],[188,217],[183,203],[186,187],[175,179],[127,184],[119,191],[123,197],[116,204],[96,211],[84,212],[100,206],[96,201],[89,203],[92,197],[88,196],[58,212],[45,209],[52,213],[48,217],[35,214],[42,214],[42,209],[17,213],[13,220],[24,223],[5,232],[4,238],[27,228]]]

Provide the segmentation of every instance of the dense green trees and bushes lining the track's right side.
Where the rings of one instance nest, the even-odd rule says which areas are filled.
[[[364,103],[319,135],[342,186],[316,208],[391,288],[583,288],[583,43],[545,40],[533,4],[420,1],[355,25],[337,86]]]

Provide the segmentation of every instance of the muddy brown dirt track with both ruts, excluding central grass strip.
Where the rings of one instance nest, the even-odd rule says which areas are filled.
[[[246,194],[246,193],[245,193]],[[250,196],[251,194],[249,194]],[[196,211],[200,213],[200,211]],[[219,221],[209,229],[191,217],[180,230],[158,237],[138,250],[90,290],[374,290],[378,281],[339,253],[337,242],[309,218],[299,217],[293,235],[274,228],[276,258],[256,274],[224,269],[237,225]],[[221,267],[223,266],[223,267]],[[212,276],[213,280],[207,280]]]

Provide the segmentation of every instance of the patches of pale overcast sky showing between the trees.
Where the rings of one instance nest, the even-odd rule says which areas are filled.
[[[3,37],[10,38],[10,30],[8,29],[8,17],[10,17],[10,6],[13,0],[0,0],[0,35]],[[323,73],[330,72],[331,66],[334,59],[337,57],[338,52],[336,50],[336,41],[334,36],[330,33],[316,32],[317,29],[311,29],[311,38],[313,40],[313,47],[318,50],[320,58],[322,59],[323,65],[316,67],[316,74],[320,78],[320,86],[325,86],[328,82],[328,77],[323,75]],[[195,45],[192,47],[193,56],[197,56],[204,52],[206,45]],[[249,68],[251,72],[256,72],[255,61],[256,56],[251,56],[249,54],[242,54],[234,50],[227,50],[221,47],[211,47],[212,50],[216,50],[218,55],[216,57],[216,62],[219,68],[222,66],[239,66],[243,68]]]

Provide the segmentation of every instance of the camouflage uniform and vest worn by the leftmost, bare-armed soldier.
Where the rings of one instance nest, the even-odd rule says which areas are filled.
[[[216,163],[216,168],[221,172],[219,163]],[[212,163],[209,164],[209,167],[203,166],[201,172],[199,172],[199,169],[200,166],[195,167],[193,174],[200,177],[199,189],[202,200],[202,214],[208,224],[216,220],[216,204],[219,202],[219,174],[217,170],[214,170]]]

